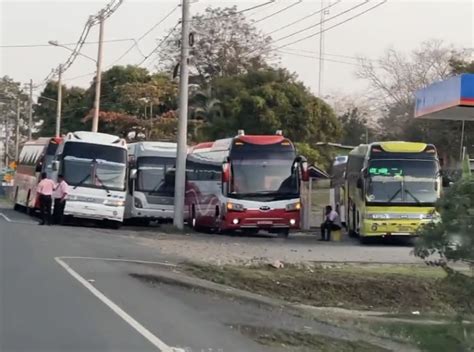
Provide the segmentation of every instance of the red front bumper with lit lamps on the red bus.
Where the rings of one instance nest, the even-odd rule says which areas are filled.
[[[275,209],[268,212],[244,211],[228,212],[222,221],[221,228],[224,230],[239,229],[299,229],[299,211],[285,211]]]

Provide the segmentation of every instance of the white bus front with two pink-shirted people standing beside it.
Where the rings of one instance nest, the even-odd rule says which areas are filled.
[[[123,222],[126,194],[127,143],[117,136],[71,132],[53,163],[55,177],[69,184],[64,215],[104,220],[112,227]]]

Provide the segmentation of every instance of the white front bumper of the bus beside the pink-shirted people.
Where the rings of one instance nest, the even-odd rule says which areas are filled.
[[[124,207],[105,206],[102,204],[67,201],[64,215],[92,220],[123,221]]]

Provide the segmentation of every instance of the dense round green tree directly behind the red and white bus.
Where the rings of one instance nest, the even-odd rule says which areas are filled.
[[[222,114],[203,126],[207,139],[283,130],[294,141],[316,143],[340,136],[340,123],[331,107],[314,97],[284,69],[250,71],[218,77],[211,82]]]

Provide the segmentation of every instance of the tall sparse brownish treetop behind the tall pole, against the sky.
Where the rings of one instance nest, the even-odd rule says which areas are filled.
[[[271,38],[256,29],[237,7],[211,8],[192,17],[194,44],[191,67],[199,83],[215,77],[243,74],[266,66],[274,58]],[[159,69],[172,72],[179,62],[181,33],[173,31],[158,52]]]

